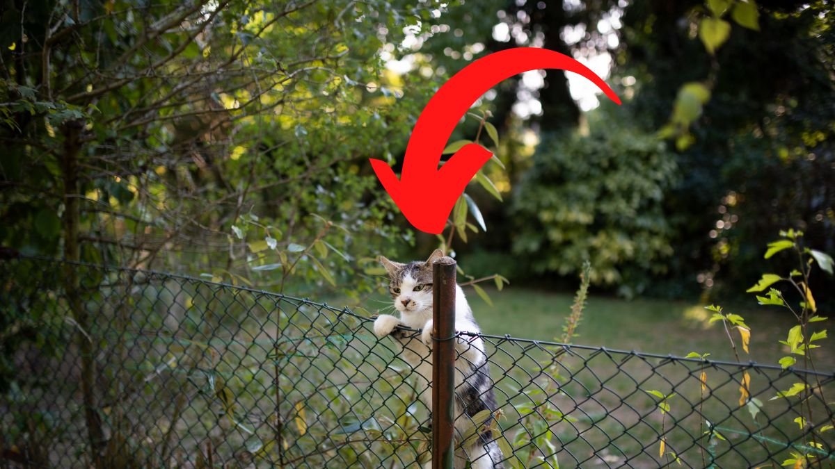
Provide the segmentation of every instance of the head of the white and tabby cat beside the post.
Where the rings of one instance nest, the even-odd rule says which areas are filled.
[[[432,308],[432,265],[442,257],[443,251],[435,250],[423,262],[412,260],[401,264],[380,256],[380,263],[388,272],[388,292],[398,311],[415,312]]]

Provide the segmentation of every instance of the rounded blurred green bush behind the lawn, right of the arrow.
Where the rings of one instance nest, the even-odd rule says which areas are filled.
[[[514,192],[514,252],[537,273],[590,260],[592,283],[635,295],[673,253],[662,203],[675,179],[673,156],[635,129],[547,136]]]

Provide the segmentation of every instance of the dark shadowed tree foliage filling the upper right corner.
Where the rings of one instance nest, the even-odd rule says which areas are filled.
[[[835,89],[831,9],[744,0],[641,1],[625,9],[615,71],[635,79],[625,107],[679,152],[681,179],[665,199],[676,259],[653,293],[696,293],[686,285],[698,277],[711,297],[739,295],[767,271],[759,248],[777,229],[802,227],[819,246],[835,236],[835,114],[822,104]],[[711,54],[700,25],[717,19],[731,33]],[[688,91],[693,83],[706,100]]]

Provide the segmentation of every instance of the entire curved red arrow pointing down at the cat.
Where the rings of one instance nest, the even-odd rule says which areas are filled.
[[[615,92],[589,68],[552,50],[513,48],[491,53],[470,63],[443,83],[417,118],[406,148],[401,179],[397,179],[385,161],[371,159],[382,187],[415,228],[427,233],[441,233],[464,187],[493,156],[481,145],[468,144],[438,169],[441,152],[453,134],[455,124],[475,100],[496,83],[539,68],[560,68],[579,73],[620,104]]]

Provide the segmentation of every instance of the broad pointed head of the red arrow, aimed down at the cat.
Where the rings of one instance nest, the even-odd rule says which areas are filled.
[[[409,223],[423,232],[438,235],[443,232],[449,213],[470,179],[491,156],[493,154],[481,145],[468,144],[455,152],[440,170],[433,170],[423,177],[404,173],[399,180],[385,161],[370,161],[383,189]]]

